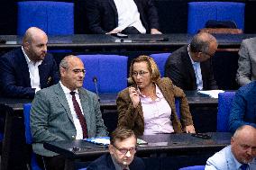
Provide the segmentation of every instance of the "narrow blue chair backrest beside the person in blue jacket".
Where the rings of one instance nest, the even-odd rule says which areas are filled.
[[[228,131],[228,119],[235,92],[224,92],[218,96],[217,131]]]

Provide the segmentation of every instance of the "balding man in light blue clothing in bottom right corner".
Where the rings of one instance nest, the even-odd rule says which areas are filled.
[[[231,145],[208,158],[206,170],[252,170],[256,169],[256,129],[244,125],[237,129]]]

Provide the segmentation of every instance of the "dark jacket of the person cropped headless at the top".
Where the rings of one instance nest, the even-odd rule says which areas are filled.
[[[134,0],[147,33],[159,29],[158,13],[152,0]],[[92,33],[106,33],[118,25],[114,0],[87,0],[87,21]]]

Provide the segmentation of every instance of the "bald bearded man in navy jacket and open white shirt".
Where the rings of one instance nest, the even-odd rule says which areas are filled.
[[[7,97],[33,98],[42,88],[57,84],[59,73],[54,58],[47,54],[44,31],[29,28],[22,47],[0,58],[0,93]]]

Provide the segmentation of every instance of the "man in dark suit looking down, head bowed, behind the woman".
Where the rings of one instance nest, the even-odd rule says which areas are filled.
[[[211,59],[217,41],[207,32],[197,33],[188,46],[174,51],[166,61],[165,76],[182,90],[217,89]]]

